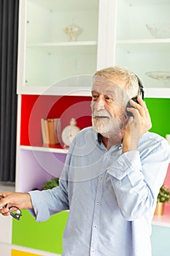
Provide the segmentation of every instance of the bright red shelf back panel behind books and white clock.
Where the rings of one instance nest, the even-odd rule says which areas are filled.
[[[61,118],[62,129],[73,117],[80,129],[91,126],[90,102],[91,97],[22,95],[20,145],[42,146],[41,118]]]

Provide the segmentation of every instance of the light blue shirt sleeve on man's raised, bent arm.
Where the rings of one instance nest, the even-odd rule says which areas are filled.
[[[170,150],[165,139],[154,143],[148,140],[147,146],[142,152],[125,152],[107,170],[120,211],[127,220],[150,214],[150,209],[153,214],[169,165]]]

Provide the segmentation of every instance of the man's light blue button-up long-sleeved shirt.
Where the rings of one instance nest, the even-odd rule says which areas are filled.
[[[122,145],[107,150],[92,127],[82,129],[69,148],[60,186],[29,192],[37,222],[69,210],[63,256],[152,255],[151,222],[170,147],[146,132],[138,151],[121,151]]]

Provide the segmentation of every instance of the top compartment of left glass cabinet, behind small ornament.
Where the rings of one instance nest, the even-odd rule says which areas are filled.
[[[69,41],[64,29],[72,23],[82,29],[77,40],[96,40],[98,0],[88,0],[88,4],[82,0],[74,0],[72,4],[69,4],[68,1],[59,1],[58,4],[58,1],[53,0],[42,4],[42,1],[39,0],[28,0],[26,19],[27,42],[44,42],[47,38],[51,42]]]

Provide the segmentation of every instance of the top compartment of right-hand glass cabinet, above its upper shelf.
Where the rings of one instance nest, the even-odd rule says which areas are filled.
[[[170,23],[169,7],[168,0],[117,1],[117,39],[154,39],[146,25]]]

